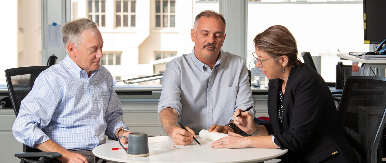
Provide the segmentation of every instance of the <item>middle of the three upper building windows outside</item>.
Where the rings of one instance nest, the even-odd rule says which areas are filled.
[[[135,0],[115,1],[115,27],[135,27]]]

